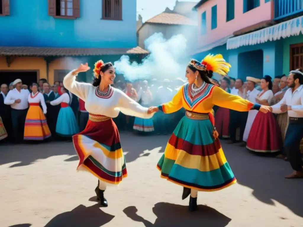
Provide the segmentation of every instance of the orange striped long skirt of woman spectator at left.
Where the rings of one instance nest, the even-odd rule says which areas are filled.
[[[30,103],[25,118],[24,140],[45,140],[51,136],[39,103]]]

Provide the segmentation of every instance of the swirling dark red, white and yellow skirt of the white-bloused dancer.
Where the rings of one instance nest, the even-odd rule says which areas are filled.
[[[127,176],[118,128],[112,118],[90,113],[85,130],[73,136],[73,143],[80,159],[78,170],[110,184],[119,184]]]

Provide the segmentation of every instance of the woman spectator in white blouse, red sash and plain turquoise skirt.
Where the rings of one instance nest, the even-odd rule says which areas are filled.
[[[52,106],[61,104],[56,124],[56,133],[61,137],[69,138],[78,133],[79,128],[75,113],[69,106],[71,98],[69,97],[68,90],[65,87],[62,87],[61,90],[62,95],[51,101],[50,104]]]

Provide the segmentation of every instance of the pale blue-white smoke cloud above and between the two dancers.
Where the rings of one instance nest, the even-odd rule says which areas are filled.
[[[175,35],[166,40],[162,33],[155,33],[145,40],[145,47],[150,54],[142,63],[131,63],[129,57],[123,55],[114,62],[116,72],[124,74],[125,79],[130,81],[151,78],[174,80],[184,77],[189,58],[183,35]]]

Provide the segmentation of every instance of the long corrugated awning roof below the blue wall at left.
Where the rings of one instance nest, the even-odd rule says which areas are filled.
[[[114,54],[149,54],[141,47],[135,48],[50,48],[50,47],[0,47],[2,56],[96,56]]]

